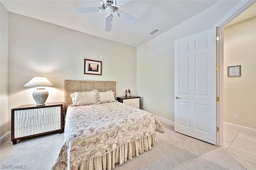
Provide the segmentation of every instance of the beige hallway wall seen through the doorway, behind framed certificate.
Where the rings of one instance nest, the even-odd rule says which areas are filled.
[[[234,65],[241,76],[228,77]],[[256,129],[256,17],[224,29],[224,121]]]

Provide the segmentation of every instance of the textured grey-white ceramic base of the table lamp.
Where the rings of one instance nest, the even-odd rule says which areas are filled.
[[[36,101],[36,106],[45,105],[48,95],[49,93],[47,90],[45,90],[45,88],[36,88],[36,90],[33,92],[33,98]]]

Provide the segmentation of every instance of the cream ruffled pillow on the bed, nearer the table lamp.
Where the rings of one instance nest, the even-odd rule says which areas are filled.
[[[72,106],[84,106],[91,104],[100,104],[100,95],[98,90],[90,92],[74,92],[70,94],[72,98]]]

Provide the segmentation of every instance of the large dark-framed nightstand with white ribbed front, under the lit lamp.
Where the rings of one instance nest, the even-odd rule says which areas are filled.
[[[22,105],[12,109],[11,140],[25,139],[63,129],[63,102]]]

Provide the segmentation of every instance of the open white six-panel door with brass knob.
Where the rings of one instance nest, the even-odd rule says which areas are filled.
[[[216,145],[216,29],[174,43],[174,131]]]

